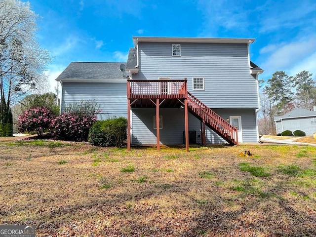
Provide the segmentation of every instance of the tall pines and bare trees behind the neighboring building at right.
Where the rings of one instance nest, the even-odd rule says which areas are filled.
[[[313,74],[302,71],[289,76],[275,72],[267,81],[260,79],[261,118],[259,133],[275,134],[275,116],[282,116],[295,108],[313,110],[316,105],[316,83]]]

